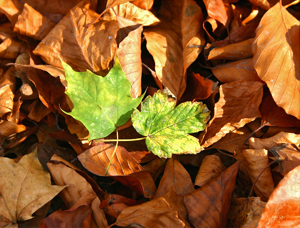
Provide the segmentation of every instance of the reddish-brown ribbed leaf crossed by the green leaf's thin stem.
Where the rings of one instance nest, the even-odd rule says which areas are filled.
[[[113,144],[93,146],[80,154],[78,159],[87,170],[98,176],[105,176],[104,173],[111,159],[107,176],[151,199],[156,187],[150,173],[144,170],[124,147],[118,146],[115,155],[111,158],[113,151]]]

